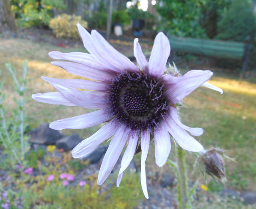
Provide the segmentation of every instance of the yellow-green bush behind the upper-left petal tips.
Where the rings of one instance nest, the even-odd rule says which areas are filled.
[[[61,14],[50,21],[49,27],[58,38],[76,39],[79,37],[76,23],[80,23],[84,28],[88,26],[81,16]]]

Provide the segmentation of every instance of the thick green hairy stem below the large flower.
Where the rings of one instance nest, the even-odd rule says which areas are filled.
[[[188,195],[188,184],[186,175],[186,158],[185,151],[177,145],[176,147],[176,160],[177,160],[177,178],[178,178],[178,202],[179,209],[185,209]]]

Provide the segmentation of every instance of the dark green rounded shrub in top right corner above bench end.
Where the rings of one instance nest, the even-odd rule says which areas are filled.
[[[252,6],[247,0],[234,0],[218,22],[216,38],[244,42],[248,35],[254,37],[255,31],[256,23]]]

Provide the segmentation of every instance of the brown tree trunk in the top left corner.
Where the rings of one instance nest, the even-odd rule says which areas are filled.
[[[11,3],[9,0],[0,0],[0,16],[1,22],[6,23],[10,31],[16,33],[17,27],[15,25],[14,16],[12,15]]]

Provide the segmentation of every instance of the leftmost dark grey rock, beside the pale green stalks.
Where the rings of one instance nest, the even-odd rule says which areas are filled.
[[[30,143],[50,145],[61,138],[61,134],[57,130],[53,130],[49,127],[49,124],[43,124],[34,130],[29,132]]]

